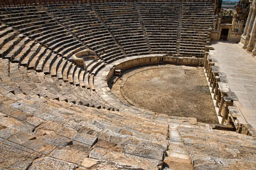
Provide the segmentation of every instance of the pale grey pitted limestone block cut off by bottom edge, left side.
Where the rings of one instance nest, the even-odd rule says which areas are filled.
[[[76,167],[76,164],[67,161],[45,157],[36,159],[29,167],[29,170],[75,170]]]

